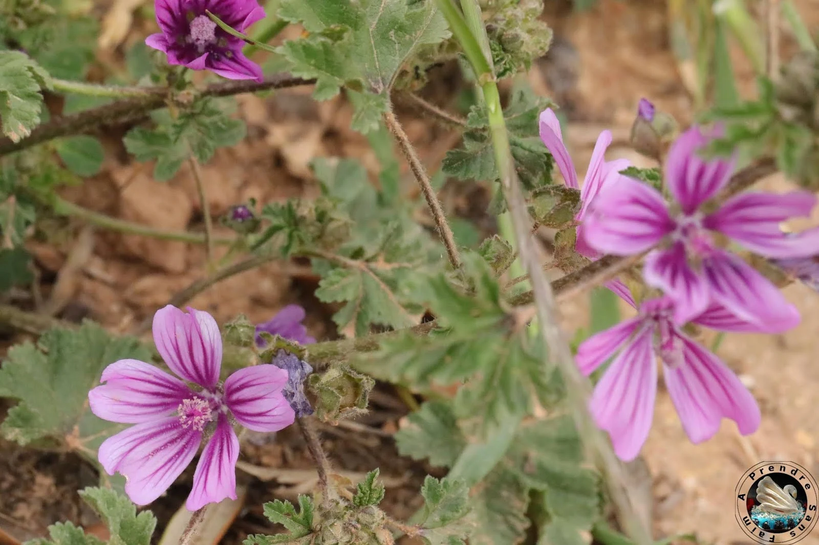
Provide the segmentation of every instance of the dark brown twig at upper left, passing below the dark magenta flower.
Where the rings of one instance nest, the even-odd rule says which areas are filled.
[[[289,74],[275,74],[261,82],[251,80],[229,81],[214,83],[202,89],[202,97],[229,97],[243,92],[265,91],[310,85],[314,79],[294,78]],[[165,106],[169,99],[169,92],[165,88],[147,88],[156,90],[156,93],[147,94],[143,98],[133,98],[112,102],[72,115],[55,116],[47,124],[42,124],[31,131],[28,137],[20,142],[12,142],[11,138],[0,138],[0,156],[8,155],[12,151],[25,150],[57,137],[71,134],[81,134],[100,126],[130,123],[142,119],[148,112]]]

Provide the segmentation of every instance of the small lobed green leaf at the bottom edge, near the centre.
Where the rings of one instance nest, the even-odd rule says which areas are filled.
[[[459,480],[427,476],[423,496],[423,539],[429,545],[464,543],[474,527],[469,514],[469,489]]]

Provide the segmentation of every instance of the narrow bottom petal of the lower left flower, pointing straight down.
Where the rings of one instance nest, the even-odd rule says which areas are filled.
[[[228,419],[221,415],[193,474],[193,488],[188,502],[185,502],[188,511],[197,511],[208,503],[218,503],[224,498],[236,499],[238,459],[239,439]]]

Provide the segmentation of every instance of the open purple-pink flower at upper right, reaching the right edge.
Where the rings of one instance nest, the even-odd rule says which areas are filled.
[[[791,320],[794,308],[776,286],[722,246],[728,237],[772,258],[819,254],[819,231],[784,236],[779,229],[785,219],[810,214],[817,199],[807,191],[748,192],[709,208],[708,200],[731,178],[734,161],[701,159],[697,151],[706,143],[708,136],[690,128],[668,153],[665,175],[676,205],[670,208],[654,188],[622,178],[586,214],[586,241],[595,250],[617,255],[639,254],[664,243],[646,256],[645,282],[675,300],[677,323],[695,318],[712,303],[760,325]]]

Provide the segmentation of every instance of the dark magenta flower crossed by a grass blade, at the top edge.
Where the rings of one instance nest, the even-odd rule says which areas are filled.
[[[244,33],[265,18],[256,0],[156,0],[154,7],[162,32],[151,34],[145,43],[164,52],[169,64],[210,70],[228,79],[261,81],[260,66],[242,53],[244,41],[220,29],[205,13],[210,11]]]

